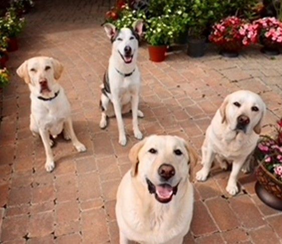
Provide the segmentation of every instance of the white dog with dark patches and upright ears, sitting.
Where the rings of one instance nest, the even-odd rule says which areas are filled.
[[[137,117],[144,117],[144,114],[138,110],[140,73],[136,65],[138,39],[142,35],[143,22],[137,20],[133,24],[132,30],[122,28],[118,31],[110,23],[104,24],[103,27],[112,42],[112,53],[101,85],[100,107],[102,114],[99,126],[101,129],[106,128],[107,117],[115,115],[119,134],[118,142],[124,146],[126,136],[122,113],[129,112],[130,109],[134,137],[137,139],[143,137],[137,121]]]

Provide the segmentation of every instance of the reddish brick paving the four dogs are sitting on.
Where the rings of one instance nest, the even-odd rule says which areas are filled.
[[[72,3],[68,6],[68,3]],[[12,84],[1,98],[0,225],[3,243],[118,243],[115,193],[130,168],[129,148],[136,142],[131,118],[125,118],[128,144],[117,143],[115,119],[98,127],[99,84],[110,55],[102,23],[110,1],[36,1],[27,15],[20,50],[11,53]],[[29,131],[30,100],[15,74],[27,58],[50,55],[65,66],[60,80],[72,103],[74,128],[88,151],[78,154],[58,140],[56,168],[44,169],[41,140]],[[267,121],[282,115],[281,56],[258,50],[225,59],[215,50],[200,59],[184,52],[166,62],[148,60],[140,48],[143,76],[139,119],[145,135],[173,134],[200,149],[211,117],[228,93],[239,88],[259,92],[267,103]],[[199,169],[199,165],[194,169]],[[218,166],[205,183],[195,183],[195,212],[185,243],[282,243],[282,213],[263,205],[254,192],[253,175],[240,175],[240,193],[225,192],[228,172]]]

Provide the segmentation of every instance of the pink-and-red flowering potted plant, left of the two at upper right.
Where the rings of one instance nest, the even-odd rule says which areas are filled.
[[[237,57],[243,46],[257,41],[256,26],[235,16],[227,17],[212,27],[209,40],[220,48],[225,57]]]

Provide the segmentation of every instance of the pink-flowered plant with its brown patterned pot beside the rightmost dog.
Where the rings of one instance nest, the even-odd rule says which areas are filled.
[[[273,137],[261,136],[254,157],[259,163],[256,170],[256,194],[265,204],[282,210],[282,117]]]

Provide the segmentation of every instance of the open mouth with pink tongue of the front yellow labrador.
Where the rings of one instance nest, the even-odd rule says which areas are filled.
[[[146,178],[146,182],[150,194],[155,194],[156,200],[161,203],[168,203],[172,200],[173,195],[176,195],[177,193],[178,185],[180,183],[179,181],[178,184],[173,187],[167,183],[155,186],[148,178]]]

